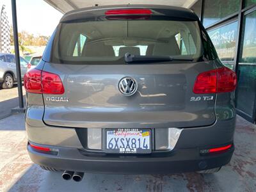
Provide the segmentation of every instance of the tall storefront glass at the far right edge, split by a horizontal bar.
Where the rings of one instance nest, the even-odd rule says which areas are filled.
[[[248,116],[256,113],[256,11],[245,15],[241,58],[238,66],[237,109]]]

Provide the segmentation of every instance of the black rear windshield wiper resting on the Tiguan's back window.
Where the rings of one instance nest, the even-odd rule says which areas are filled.
[[[161,61],[193,61],[192,58],[173,58],[171,56],[137,56],[125,53],[124,60],[126,63],[151,63]]]

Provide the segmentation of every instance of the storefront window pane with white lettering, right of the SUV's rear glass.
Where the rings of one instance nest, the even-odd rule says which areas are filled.
[[[235,69],[237,21],[208,31],[222,63],[232,70]]]

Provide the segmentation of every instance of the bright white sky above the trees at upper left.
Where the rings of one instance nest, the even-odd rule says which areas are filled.
[[[12,25],[12,1],[0,0],[0,7],[2,4],[5,4],[9,23]],[[19,32],[51,36],[63,15],[44,0],[16,0],[16,4]]]

